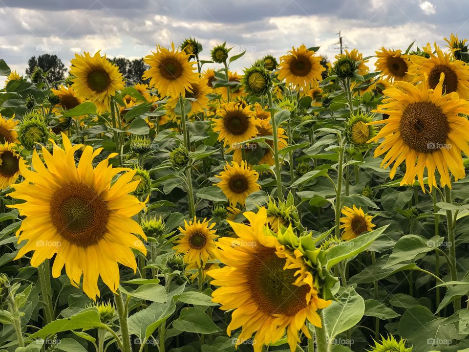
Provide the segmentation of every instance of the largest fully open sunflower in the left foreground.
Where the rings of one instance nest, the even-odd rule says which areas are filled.
[[[99,297],[98,277],[116,292],[119,286],[118,263],[136,270],[131,248],[143,254],[147,250],[134,234],[146,236],[137,222],[131,219],[145,204],[128,193],[135,190],[131,182],[135,170],[113,168],[110,154],[93,168],[93,159],[102,148],[93,151],[91,146],[77,144],[62,133],[64,148],[53,141],[53,154],[42,149],[45,164],[33,151],[32,166],[35,171],[21,167],[25,180],[13,187],[12,198],[25,200],[11,205],[24,216],[18,231],[18,243],[27,241],[16,256],[21,258],[34,251],[31,265],[37,267],[45,259],[57,254],[52,276],[65,271],[73,286],[78,287],[83,274],[83,290],[96,300]],[[75,165],[74,154],[82,150]],[[128,171],[129,170],[129,171]],[[122,171],[117,181],[111,180]]]

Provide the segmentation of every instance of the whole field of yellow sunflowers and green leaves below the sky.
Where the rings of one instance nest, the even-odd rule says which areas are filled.
[[[468,352],[445,41],[236,72],[188,38],[140,82],[99,51],[59,82],[0,60],[0,352]]]

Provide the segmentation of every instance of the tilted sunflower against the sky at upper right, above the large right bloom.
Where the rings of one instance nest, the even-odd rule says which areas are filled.
[[[381,48],[381,51],[376,51],[375,66],[378,71],[382,71],[383,75],[389,81],[408,81],[410,60],[408,55],[401,53],[401,50],[392,50]]]

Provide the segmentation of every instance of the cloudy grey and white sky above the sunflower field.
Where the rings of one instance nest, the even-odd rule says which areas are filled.
[[[467,0],[0,0],[0,58],[24,72],[28,59],[77,52],[142,57],[155,44],[195,36],[208,59],[224,41],[240,70],[256,58],[277,58],[292,45],[320,46],[333,59],[344,45],[366,56],[381,46],[405,48],[458,33],[469,38]]]

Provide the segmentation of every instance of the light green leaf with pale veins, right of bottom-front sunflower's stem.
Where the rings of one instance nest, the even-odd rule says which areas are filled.
[[[329,340],[348,329],[353,328],[362,319],[365,311],[365,302],[352,286],[348,286],[338,297],[337,302],[322,310],[324,314],[324,327]]]

